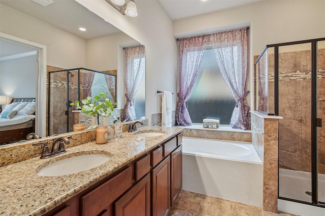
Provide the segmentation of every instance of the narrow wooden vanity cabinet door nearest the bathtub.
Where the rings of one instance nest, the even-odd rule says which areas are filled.
[[[182,190],[182,145],[171,154],[171,206]]]

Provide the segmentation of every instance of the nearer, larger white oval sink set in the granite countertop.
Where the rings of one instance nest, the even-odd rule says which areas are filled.
[[[51,163],[37,172],[39,176],[53,177],[76,174],[107,162],[111,157],[104,154],[85,154]]]

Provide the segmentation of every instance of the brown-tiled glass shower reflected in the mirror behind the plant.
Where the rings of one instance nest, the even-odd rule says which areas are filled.
[[[73,125],[80,121],[80,113],[73,112],[75,108],[70,103],[101,92],[108,92],[108,98],[116,102],[116,73],[86,68],[48,72],[47,135],[72,132]]]

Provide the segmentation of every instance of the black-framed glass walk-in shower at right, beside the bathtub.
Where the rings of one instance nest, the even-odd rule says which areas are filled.
[[[279,199],[325,207],[325,38],[268,45],[255,110],[279,120]]]

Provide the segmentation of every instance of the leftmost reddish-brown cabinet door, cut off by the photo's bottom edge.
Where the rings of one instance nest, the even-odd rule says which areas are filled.
[[[150,174],[115,202],[116,216],[150,216]]]

